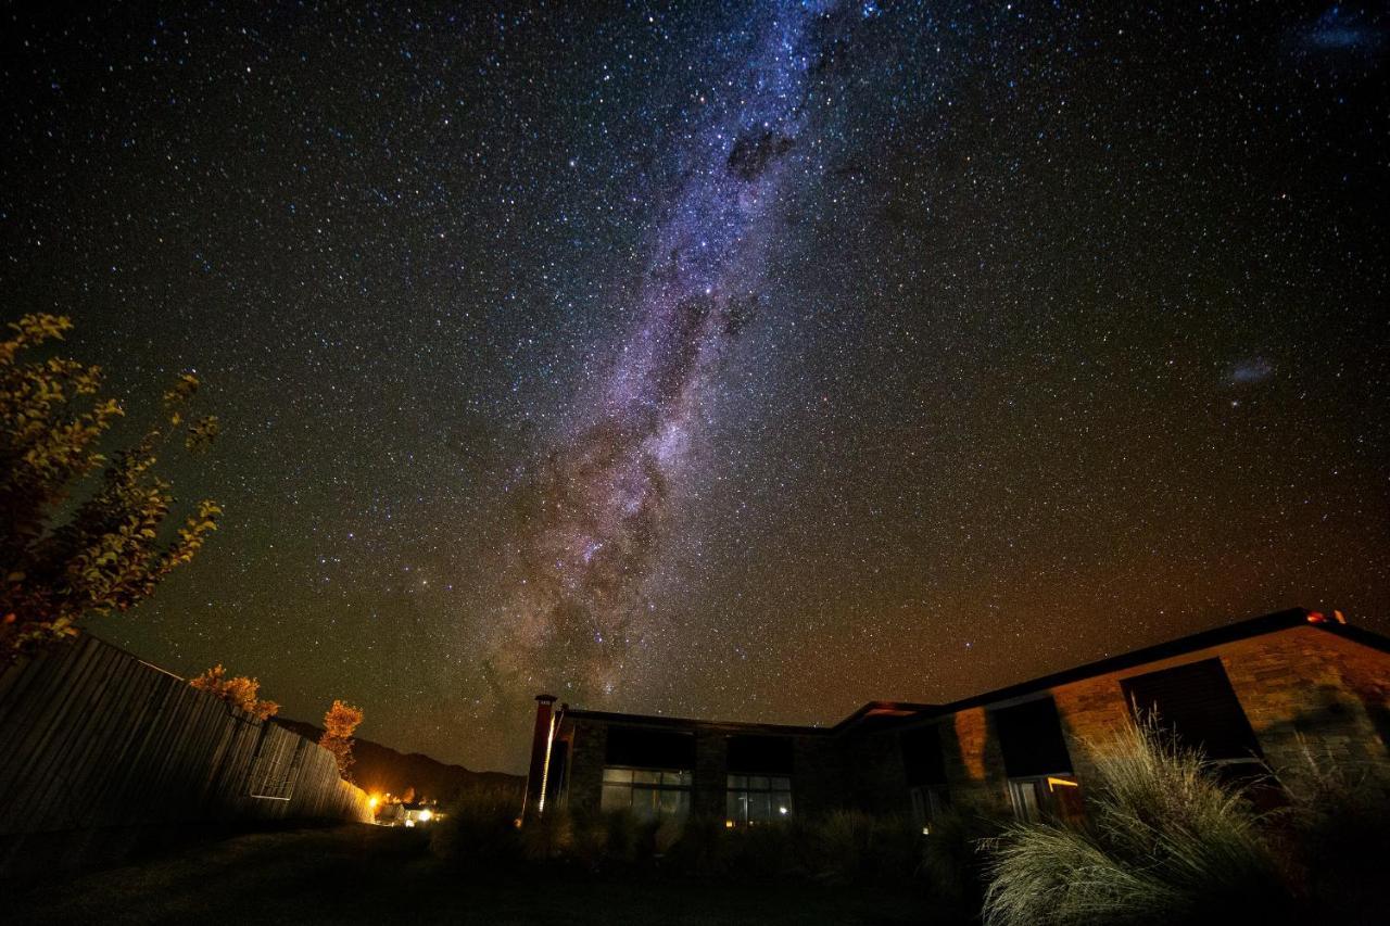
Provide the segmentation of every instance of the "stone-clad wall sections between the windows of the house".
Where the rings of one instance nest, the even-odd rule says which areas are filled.
[[[1307,769],[1308,751],[1340,766],[1377,765],[1390,772],[1390,655],[1320,627],[1298,626],[1237,640],[1122,672],[1058,685],[1051,695],[1072,767],[1083,787],[1095,776],[1094,744],[1130,723],[1120,680],[1219,658],[1259,740],[1282,779]],[[990,811],[1008,806],[1008,776],[991,710],[967,708],[941,717],[941,748],[952,798]],[[602,797],[606,720],[567,722],[573,738],[570,806],[598,809]],[[696,813],[724,813],[730,724],[694,724]],[[842,734],[792,734],[792,788],[798,815],[841,806],[906,815],[910,809],[897,731],[849,729]]]

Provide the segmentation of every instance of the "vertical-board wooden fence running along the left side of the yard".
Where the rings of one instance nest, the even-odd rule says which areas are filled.
[[[0,673],[0,876],[99,833],[288,819],[371,809],[317,742],[95,637]]]

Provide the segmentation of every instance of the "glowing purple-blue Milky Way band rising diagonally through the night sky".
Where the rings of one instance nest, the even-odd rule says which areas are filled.
[[[537,474],[527,578],[492,644],[499,688],[563,684],[594,704],[624,681],[628,651],[648,630],[653,559],[673,528],[671,482],[701,439],[709,378],[756,311],[787,167],[816,129],[808,95],[847,39],[851,17],[837,7],[784,3],[753,18],[753,54],[733,71],[724,103],[687,133],[680,186],[653,216],[637,328],[594,420]]]

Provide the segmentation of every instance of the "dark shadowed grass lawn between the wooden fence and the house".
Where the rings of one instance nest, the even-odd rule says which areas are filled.
[[[470,879],[421,833],[349,825],[254,833],[174,856],[26,886],[6,923],[923,923],[909,895],[805,884],[701,884],[580,875]],[[8,909],[6,909],[8,907]]]

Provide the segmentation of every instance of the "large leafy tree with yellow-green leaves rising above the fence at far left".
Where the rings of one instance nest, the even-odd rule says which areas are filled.
[[[125,410],[97,396],[101,368],[22,359],[61,341],[72,323],[29,314],[8,328],[0,341],[0,667],[74,637],[85,615],[149,598],[193,559],[221,514],[204,499],[172,535],[164,530],[175,499],[154,473],[157,453],[175,435],[185,450],[200,450],[218,430],[215,417],[185,419],[197,377],[182,374],[143,437],[107,459],[101,439]]]

